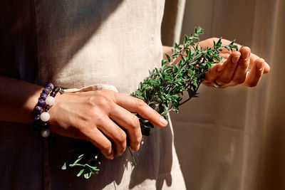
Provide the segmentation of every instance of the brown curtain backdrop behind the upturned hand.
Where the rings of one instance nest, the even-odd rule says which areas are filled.
[[[202,26],[202,39],[236,39],[271,65],[256,88],[202,86],[172,113],[187,189],[285,189],[284,21],[283,0],[166,1],[165,45]]]

